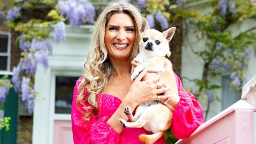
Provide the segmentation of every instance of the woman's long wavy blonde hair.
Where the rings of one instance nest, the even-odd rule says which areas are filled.
[[[76,99],[76,107],[84,115],[84,120],[90,120],[91,116],[97,115],[99,106],[96,100],[101,97],[100,92],[106,88],[110,76],[116,74],[108,59],[108,52],[104,43],[106,24],[110,16],[116,13],[125,13],[132,17],[135,26],[135,40],[130,60],[132,61],[138,53],[140,23],[142,21],[139,10],[124,2],[110,3],[96,21],[87,62],[84,64],[86,69],[84,79],[78,87],[79,95]],[[86,92],[84,92],[84,88],[86,88]],[[90,106],[86,106],[85,102],[88,102]],[[79,108],[78,104],[82,104],[83,110]]]

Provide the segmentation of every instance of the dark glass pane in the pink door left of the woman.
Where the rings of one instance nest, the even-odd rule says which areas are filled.
[[[55,113],[71,114],[73,89],[78,77],[56,76]]]

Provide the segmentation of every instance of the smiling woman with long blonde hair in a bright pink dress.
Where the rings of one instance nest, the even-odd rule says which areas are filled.
[[[138,135],[152,134],[144,128],[123,128],[119,119],[128,120],[124,107],[132,111],[141,103],[170,96],[165,82],[146,70],[132,82],[130,62],[138,52],[141,14],[126,3],[110,4],[98,17],[85,63],[84,77],[74,87],[72,131],[75,144],[138,144]],[[134,64],[134,62],[133,62]],[[136,64],[134,64],[136,65]],[[173,113],[173,133],[188,137],[204,122],[202,106],[184,90],[176,76],[179,95],[168,102]],[[158,88],[161,87],[161,88]],[[173,109],[172,109],[173,108]],[[155,142],[164,144],[164,136]]]

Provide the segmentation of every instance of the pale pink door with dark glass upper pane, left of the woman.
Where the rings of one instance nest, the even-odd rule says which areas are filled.
[[[55,76],[53,144],[74,144],[71,127],[73,89],[78,77]]]

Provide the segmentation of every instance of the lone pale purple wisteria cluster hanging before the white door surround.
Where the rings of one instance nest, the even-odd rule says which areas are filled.
[[[54,26],[54,40],[58,43],[60,42],[60,40],[66,40],[66,25],[62,21]]]

